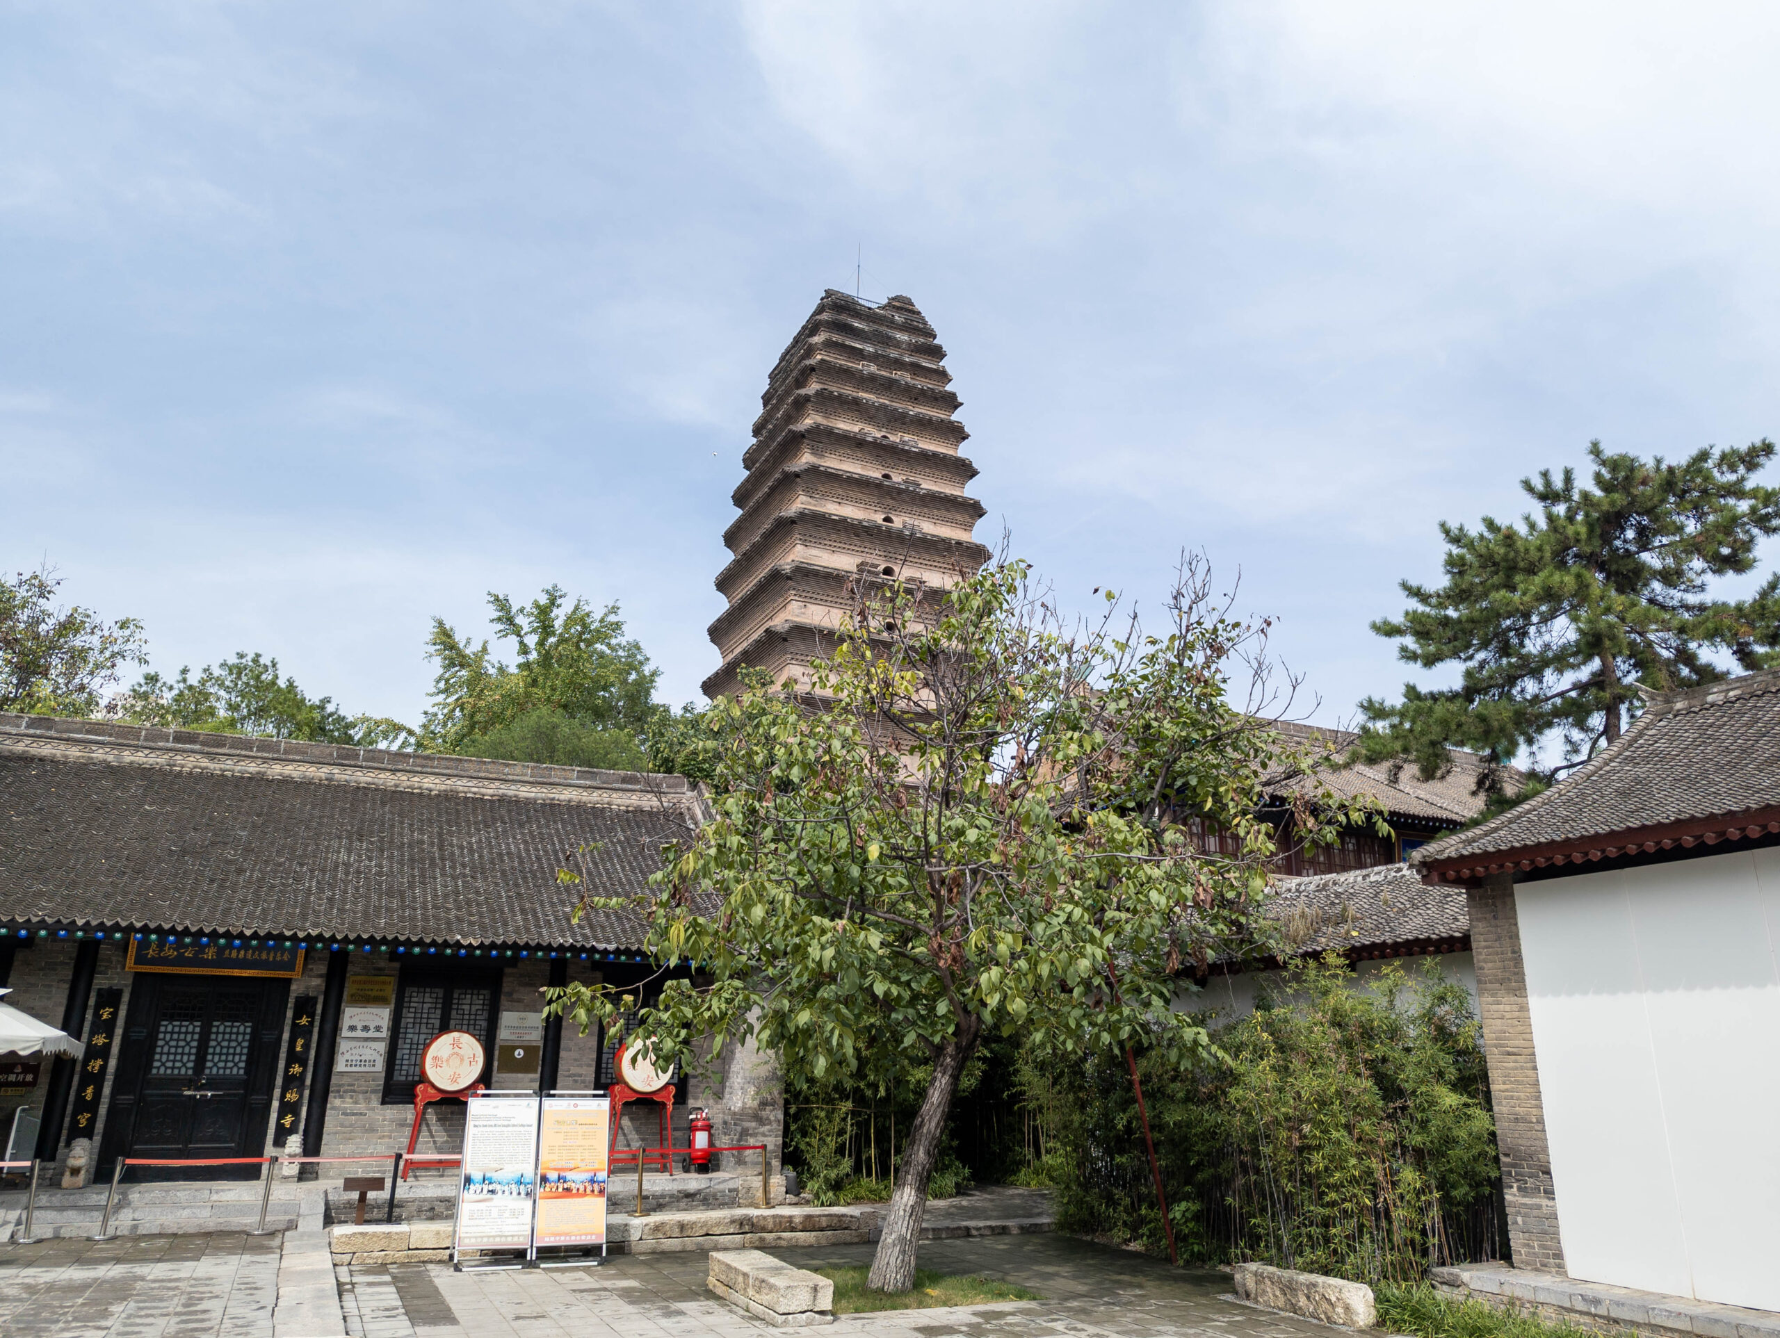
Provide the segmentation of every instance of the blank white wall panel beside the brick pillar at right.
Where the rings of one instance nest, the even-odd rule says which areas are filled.
[[[1780,1310],[1780,850],[1515,907],[1570,1276]]]

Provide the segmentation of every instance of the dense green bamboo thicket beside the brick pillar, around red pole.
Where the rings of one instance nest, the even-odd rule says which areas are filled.
[[[1337,957],[1292,968],[1216,1039],[1218,1064],[1139,1055],[1182,1258],[1412,1281],[1493,1256],[1477,1023],[1433,963],[1413,979],[1390,964],[1369,987]],[[1063,1162],[1059,1226],[1161,1253],[1123,1057],[1043,1078],[1027,1087]]]

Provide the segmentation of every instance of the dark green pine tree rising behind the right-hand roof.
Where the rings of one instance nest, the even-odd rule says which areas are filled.
[[[1465,747],[1497,763],[1499,783],[1501,765],[1556,737],[1554,776],[1613,744],[1646,689],[1723,678],[1723,658],[1780,664],[1780,575],[1746,600],[1712,591],[1753,571],[1780,530],[1780,489],[1757,482],[1775,445],[1645,461],[1593,441],[1588,454],[1593,488],[1568,466],[1520,480],[1538,514],[1518,525],[1442,521],[1445,584],[1403,582],[1413,607],[1372,630],[1408,664],[1461,665],[1460,683],[1367,697],[1358,756],[1413,758],[1426,779]]]

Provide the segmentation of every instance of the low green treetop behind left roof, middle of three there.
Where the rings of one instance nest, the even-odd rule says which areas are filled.
[[[176,729],[208,729],[310,744],[365,744],[376,721],[349,717],[333,697],[310,697],[297,680],[278,676],[278,660],[237,651],[233,660],[205,665],[198,678],[182,667],[173,678],[142,674],[117,701],[130,721]]]

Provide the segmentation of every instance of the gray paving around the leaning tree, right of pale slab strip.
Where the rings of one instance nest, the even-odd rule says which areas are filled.
[[[774,1249],[799,1267],[869,1263],[872,1245]],[[1335,1338],[1308,1320],[1225,1301],[1221,1272],[1059,1235],[922,1245],[922,1263],[1029,1286],[1045,1301],[842,1317],[833,1338]],[[778,1333],[705,1290],[707,1256],[619,1254],[598,1269],[452,1272],[354,1267],[342,1286],[361,1338],[726,1338]]]

